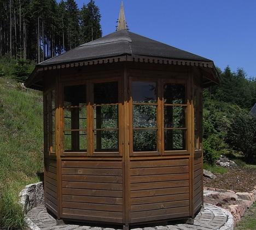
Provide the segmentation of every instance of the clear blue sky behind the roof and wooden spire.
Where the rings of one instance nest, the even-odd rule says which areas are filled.
[[[89,0],[76,0],[78,7]],[[256,77],[256,0],[124,0],[127,25],[141,34],[209,58],[222,70]],[[121,0],[95,0],[103,36],[115,31]]]

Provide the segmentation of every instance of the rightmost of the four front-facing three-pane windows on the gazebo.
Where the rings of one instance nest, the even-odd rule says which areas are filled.
[[[164,91],[164,150],[186,149],[186,97],[184,84],[166,83]]]

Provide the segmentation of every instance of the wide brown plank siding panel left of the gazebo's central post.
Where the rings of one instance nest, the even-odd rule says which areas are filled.
[[[62,161],[62,217],[123,223],[120,161]]]

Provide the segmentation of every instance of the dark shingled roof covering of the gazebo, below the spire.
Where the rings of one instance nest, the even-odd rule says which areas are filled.
[[[141,55],[212,62],[207,58],[174,48],[173,46],[140,36],[139,34],[127,30],[120,30],[92,42],[80,45],[73,50],[65,52],[65,54],[50,58],[49,60],[39,63],[38,66],[94,60],[120,55]]]

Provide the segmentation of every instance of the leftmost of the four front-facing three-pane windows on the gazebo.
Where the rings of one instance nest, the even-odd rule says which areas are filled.
[[[63,115],[64,150],[86,152],[86,85],[64,87]]]

